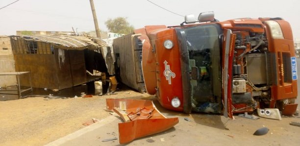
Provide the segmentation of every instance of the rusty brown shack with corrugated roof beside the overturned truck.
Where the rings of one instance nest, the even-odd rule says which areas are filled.
[[[10,36],[10,40],[16,72],[31,72],[35,88],[69,88],[87,82],[86,70],[98,67],[107,72],[101,55],[101,47],[107,45],[99,38],[34,35]],[[26,78],[22,80],[22,86],[29,86]]]

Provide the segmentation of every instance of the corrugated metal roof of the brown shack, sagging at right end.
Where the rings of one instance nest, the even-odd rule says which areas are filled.
[[[71,36],[71,35],[13,35],[11,38],[20,38],[25,41],[40,41],[51,43],[61,49],[99,49],[108,46],[105,41],[100,38],[87,36]]]

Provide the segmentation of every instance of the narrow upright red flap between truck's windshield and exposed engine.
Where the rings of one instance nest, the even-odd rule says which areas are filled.
[[[222,49],[222,98],[224,116],[233,119],[232,114],[232,63],[236,35],[230,29],[224,29],[224,43]]]

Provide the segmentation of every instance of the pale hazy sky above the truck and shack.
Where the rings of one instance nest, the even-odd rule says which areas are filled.
[[[0,0],[0,7],[15,0]],[[214,11],[215,18],[281,17],[287,20],[294,38],[300,39],[300,0],[150,0],[180,15]],[[100,29],[106,31],[108,18],[127,17],[135,28],[144,25],[178,25],[182,16],[159,8],[147,0],[94,0]],[[20,0],[0,10],[0,35],[16,30],[94,30],[89,0]]]

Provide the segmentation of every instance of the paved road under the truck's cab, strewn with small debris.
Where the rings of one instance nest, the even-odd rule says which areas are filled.
[[[165,132],[134,140],[128,146],[298,146],[300,143],[300,127],[289,124],[300,122],[299,117],[277,121],[263,118],[250,120],[236,116],[235,120],[231,120],[220,115],[184,115],[162,108],[157,101],[154,104],[166,117],[178,117],[179,123]],[[191,122],[184,118],[189,118]],[[110,116],[48,146],[122,146],[119,140],[102,142],[119,137],[119,122],[120,118]],[[270,129],[268,134],[253,135],[264,126]],[[162,138],[165,142],[161,142]]]

